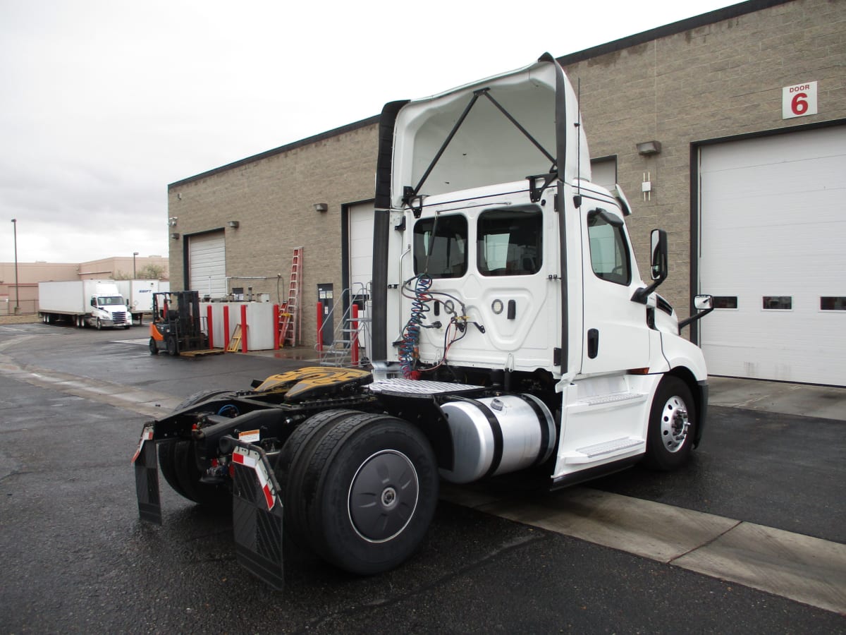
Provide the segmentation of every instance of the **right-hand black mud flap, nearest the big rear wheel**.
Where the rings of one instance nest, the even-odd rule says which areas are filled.
[[[282,590],[282,490],[264,450],[232,440],[235,555],[255,577]]]

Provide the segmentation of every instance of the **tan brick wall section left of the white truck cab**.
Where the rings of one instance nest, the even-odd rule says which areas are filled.
[[[169,240],[171,288],[184,288],[186,236],[223,229],[226,274],[236,278],[230,289],[251,286],[272,302],[284,300],[291,257],[302,246],[302,340],[313,345],[316,285],[343,288],[341,206],[373,198],[377,133],[376,119],[351,124],[170,185],[168,216],[176,224],[169,229],[179,232],[179,240]],[[315,203],[327,203],[327,212],[316,212]],[[230,220],[239,227],[228,228]],[[237,279],[263,276],[268,279]]]

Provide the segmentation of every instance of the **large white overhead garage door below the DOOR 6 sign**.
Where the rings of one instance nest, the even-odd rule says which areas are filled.
[[[846,126],[701,148],[714,375],[846,385]]]

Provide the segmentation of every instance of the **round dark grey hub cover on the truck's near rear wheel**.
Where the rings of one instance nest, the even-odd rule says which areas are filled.
[[[349,485],[349,521],[367,542],[387,542],[408,527],[419,496],[417,471],[409,457],[381,450],[367,457]]]

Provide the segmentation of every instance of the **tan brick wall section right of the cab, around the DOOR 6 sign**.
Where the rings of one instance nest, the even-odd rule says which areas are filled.
[[[796,0],[561,61],[574,85],[581,81],[591,156],[618,157],[641,274],[649,262],[650,230],[667,229],[671,269],[660,292],[686,316],[691,145],[846,118],[846,3]],[[782,119],[782,87],[814,80],[819,113]],[[662,152],[640,156],[635,144],[652,140],[662,143]],[[653,185],[649,202],[640,192],[646,172]]]

